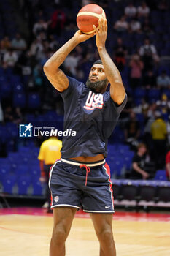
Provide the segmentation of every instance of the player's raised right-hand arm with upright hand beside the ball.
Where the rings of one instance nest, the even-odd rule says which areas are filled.
[[[125,99],[125,88],[123,86],[120,72],[105,48],[105,42],[107,39],[107,19],[98,20],[98,25],[98,29],[96,29],[96,26],[93,26],[96,31],[96,46],[104,65],[104,72],[110,83],[110,96],[114,102],[120,105],[123,102],[123,99]]]

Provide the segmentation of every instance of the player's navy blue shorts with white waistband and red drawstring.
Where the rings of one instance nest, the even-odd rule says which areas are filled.
[[[51,208],[81,206],[86,212],[115,212],[109,165],[105,161],[84,165],[60,159],[51,168],[49,187]]]

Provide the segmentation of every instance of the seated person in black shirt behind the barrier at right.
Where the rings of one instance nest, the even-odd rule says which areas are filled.
[[[146,153],[147,146],[144,143],[139,143],[137,147],[137,152],[132,159],[132,179],[147,179],[149,178],[149,173],[144,170],[146,165]]]

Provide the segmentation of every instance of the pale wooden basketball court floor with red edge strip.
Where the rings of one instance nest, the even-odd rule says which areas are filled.
[[[117,256],[169,256],[170,215],[116,212]],[[48,256],[53,214],[42,208],[0,209],[1,256]],[[66,242],[66,256],[98,256],[99,245],[88,214],[78,211]]]

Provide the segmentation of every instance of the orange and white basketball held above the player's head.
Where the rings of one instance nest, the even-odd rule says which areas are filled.
[[[87,4],[77,14],[77,26],[82,33],[92,34],[99,18],[106,18],[104,10],[98,4]]]

